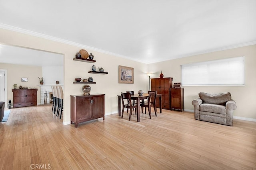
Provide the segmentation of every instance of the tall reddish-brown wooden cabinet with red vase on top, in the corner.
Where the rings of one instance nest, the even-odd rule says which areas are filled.
[[[162,94],[162,108],[170,110],[171,96],[170,88],[172,88],[172,77],[167,78],[151,78],[151,90]],[[156,107],[160,108],[160,103],[156,100]]]

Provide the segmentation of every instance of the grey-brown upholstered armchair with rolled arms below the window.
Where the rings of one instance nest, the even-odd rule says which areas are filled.
[[[231,94],[199,93],[200,98],[192,101],[195,119],[233,126],[233,110],[236,102],[231,99]]]

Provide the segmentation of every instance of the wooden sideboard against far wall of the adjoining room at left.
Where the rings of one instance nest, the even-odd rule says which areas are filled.
[[[35,89],[12,89],[13,107],[36,106],[37,88]]]

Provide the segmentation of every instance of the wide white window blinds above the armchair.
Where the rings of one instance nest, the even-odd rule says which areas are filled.
[[[244,86],[244,57],[181,65],[182,86]]]

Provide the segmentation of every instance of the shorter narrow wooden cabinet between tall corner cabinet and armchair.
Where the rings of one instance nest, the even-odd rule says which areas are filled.
[[[184,111],[184,88],[171,88],[171,110]]]

